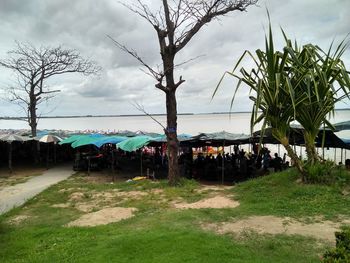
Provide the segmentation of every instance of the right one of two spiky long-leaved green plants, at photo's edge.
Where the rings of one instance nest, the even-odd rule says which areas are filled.
[[[308,162],[313,164],[319,160],[315,141],[320,127],[334,129],[327,120],[334,114],[335,104],[349,98],[350,81],[341,56],[348,48],[345,39],[332,52],[333,43],[327,52],[313,44],[287,48],[293,50],[291,72],[293,75],[303,75],[302,81],[294,85],[294,91],[304,99],[296,108],[295,119],[302,125],[308,155]],[[304,74],[306,72],[306,74]]]

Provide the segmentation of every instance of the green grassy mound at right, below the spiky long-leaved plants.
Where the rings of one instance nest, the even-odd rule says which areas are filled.
[[[350,195],[338,186],[302,184],[294,170],[239,184],[235,189],[242,214],[290,216],[350,216]]]

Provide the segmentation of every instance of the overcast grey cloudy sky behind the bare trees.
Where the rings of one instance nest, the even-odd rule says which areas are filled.
[[[133,3],[135,1],[124,1]],[[146,1],[157,10],[161,1]],[[159,2],[159,3],[158,3]],[[350,33],[349,0],[259,0],[246,12],[231,12],[211,21],[176,57],[176,63],[195,60],[176,69],[185,80],[177,90],[179,113],[226,112],[235,82],[225,78],[217,95],[215,87],[225,71],[231,71],[245,50],[264,48],[269,10],[277,48],[283,47],[280,27],[299,44],[313,43],[327,49]],[[145,74],[137,60],[118,49],[118,42],[137,51],[149,65],[161,63],[155,30],[146,20],[117,0],[0,0],[0,58],[15,47],[15,41],[36,47],[63,45],[102,67],[98,76],[66,74],[46,83],[61,92],[40,105],[41,115],[123,115],[165,113],[165,94]],[[343,56],[350,68],[350,49]],[[249,65],[249,61],[246,62]],[[10,70],[0,68],[0,116],[23,116],[18,105],[6,100],[6,89],[15,83]],[[250,111],[248,89],[236,96],[232,111]],[[337,108],[349,108],[349,102]]]

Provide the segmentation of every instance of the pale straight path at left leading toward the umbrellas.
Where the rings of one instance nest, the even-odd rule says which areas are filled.
[[[49,186],[67,179],[73,173],[70,165],[59,166],[33,177],[27,182],[0,190],[0,214],[20,206]]]

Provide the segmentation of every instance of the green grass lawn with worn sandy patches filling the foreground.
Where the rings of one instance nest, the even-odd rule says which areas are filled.
[[[300,184],[292,170],[221,189],[189,180],[177,188],[166,181],[112,184],[77,174],[0,216],[0,262],[319,262],[329,242],[283,233],[218,234],[203,225],[265,215],[307,222],[350,218],[343,190]],[[240,205],[174,208],[216,194]],[[107,225],[65,226],[87,213],[82,207],[111,206],[137,211]]]

